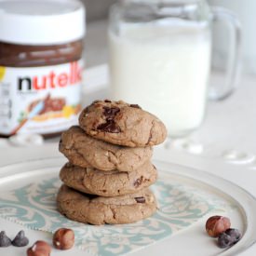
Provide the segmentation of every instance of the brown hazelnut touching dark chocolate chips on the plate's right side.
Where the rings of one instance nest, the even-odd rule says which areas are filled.
[[[217,237],[230,228],[230,220],[222,216],[212,216],[206,222],[206,230],[209,236]]]

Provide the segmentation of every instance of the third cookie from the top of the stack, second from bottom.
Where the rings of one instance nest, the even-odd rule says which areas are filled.
[[[80,168],[67,163],[61,168],[60,178],[67,186],[80,192],[116,196],[135,193],[150,186],[157,179],[157,171],[150,162],[129,172]]]

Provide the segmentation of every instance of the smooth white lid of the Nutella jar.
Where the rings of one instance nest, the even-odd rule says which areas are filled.
[[[58,45],[86,34],[85,8],[78,0],[0,0],[0,41]]]

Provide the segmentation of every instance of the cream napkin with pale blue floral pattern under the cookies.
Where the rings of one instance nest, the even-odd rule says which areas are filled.
[[[54,233],[71,227],[75,245],[92,255],[121,255],[151,245],[187,228],[226,202],[216,195],[167,179],[160,175],[152,190],[158,201],[157,212],[147,220],[123,224],[93,226],[73,222],[56,209],[56,194],[61,182],[52,178],[31,183],[0,196],[0,216],[28,228]]]

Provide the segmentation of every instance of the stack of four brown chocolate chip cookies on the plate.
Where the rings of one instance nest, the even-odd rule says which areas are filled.
[[[92,224],[137,222],[151,216],[156,201],[148,187],[156,181],[152,146],[167,129],[155,115],[124,101],[94,101],[79,127],[63,132],[57,196],[61,214]]]

